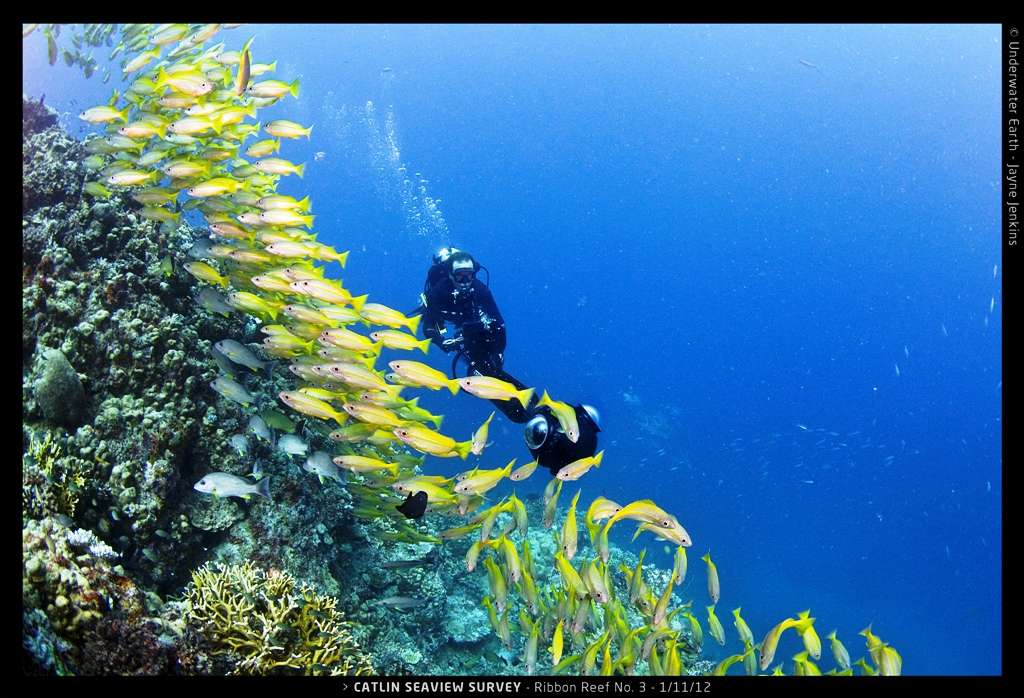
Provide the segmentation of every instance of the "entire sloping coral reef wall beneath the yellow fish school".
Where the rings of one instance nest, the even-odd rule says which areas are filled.
[[[387,527],[353,518],[343,485],[319,482],[265,441],[250,440],[245,455],[230,446],[229,438],[246,431],[248,413],[210,388],[217,376],[210,350],[226,337],[257,341],[257,323],[210,313],[191,298],[194,283],[180,267],[200,231],[144,220],[127,195],[83,195],[82,144],[37,102],[26,100],[24,114],[23,644],[29,670],[329,672],[370,670],[364,662],[373,657],[373,668],[386,673],[522,672],[523,639],[502,645],[480,605],[485,576],[466,570],[469,540],[441,546],[431,565],[387,569],[388,562],[422,557],[433,547],[382,540]],[[161,268],[168,253],[169,274]],[[39,390],[47,365],[58,361],[45,358],[54,352],[81,385],[81,393],[65,388],[78,404],[72,421],[55,422],[46,391]],[[260,407],[294,386],[284,372],[269,380],[246,372],[237,380]],[[331,449],[323,430],[298,422],[297,434],[310,449]],[[271,478],[272,503],[211,498],[191,488],[207,472],[246,475],[257,463]],[[540,503],[528,499],[527,508],[539,522]],[[436,535],[456,523],[432,516],[416,527]],[[536,558],[550,560],[550,530],[535,526],[528,537]],[[614,555],[635,564],[625,551]],[[253,604],[260,613],[290,609],[291,629],[272,636],[276,644],[240,653],[243,645],[228,628],[218,634],[216,623],[202,620],[202,604],[175,601],[183,588],[198,601],[196,579],[202,586],[228,569],[237,578],[248,569],[260,583],[270,574],[262,570],[280,570],[270,584],[279,592],[274,584],[290,580],[284,597]],[[648,581],[660,587],[666,578]],[[551,567],[537,581],[545,586],[556,579]],[[229,586],[220,588],[227,594]],[[379,603],[387,597],[424,603],[396,610]],[[306,607],[324,619],[303,619]],[[333,646],[309,637],[311,644],[302,645],[301,628],[313,620],[339,623],[346,642],[361,648],[358,659],[346,667]],[[249,621],[249,635],[262,627]],[[270,647],[291,648],[290,654]]]

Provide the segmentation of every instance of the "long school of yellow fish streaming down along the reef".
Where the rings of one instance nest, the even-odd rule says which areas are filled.
[[[475,536],[466,567],[472,571],[481,566],[486,572],[489,595],[481,603],[507,648],[513,647],[513,632],[522,637],[527,672],[686,672],[680,651],[700,647],[703,626],[692,612],[692,600],[673,603],[673,592],[687,574],[686,549],[692,542],[675,516],[650,499],[620,505],[597,496],[582,513],[587,532],[583,542],[589,544],[583,554],[578,524],[582,489],[577,490],[560,519],[554,560],[544,563],[557,571],[560,583],[542,588],[536,581],[542,561],[535,560],[529,549],[525,505],[514,492],[497,504],[486,496],[503,480],[530,477],[536,462],[516,468],[512,460],[504,467],[477,467],[454,478],[423,473],[427,455],[461,460],[471,453],[481,455],[488,445],[494,413],[470,438],[459,441],[440,432],[441,416],[419,406],[418,398],[403,397],[403,392],[425,388],[455,395],[461,390],[483,399],[516,399],[525,406],[532,389],[516,391],[485,377],[450,379],[410,359],[390,361],[390,370],[376,366],[385,347],[428,352],[429,342],[416,337],[420,318],[368,302],[366,294],[325,275],[327,265],[336,262],[344,267],[348,252],[316,241],[308,197],[276,192],[282,177],[302,177],[305,168],[278,157],[282,144],[310,138],[312,126],[287,120],[250,121],[262,106],[298,97],[299,81],[263,78],[276,63],[255,62],[252,39],[241,50],[210,44],[222,31],[236,27],[122,26],[114,55],[124,54],[123,75],[130,84],[123,94],[115,92],[108,104],[80,115],[105,130],[86,143],[90,154],[86,166],[97,173],[86,191],[109,197],[115,189],[129,189],[144,218],[167,224],[176,224],[182,211],[202,213],[213,239],[194,248],[190,254],[196,259],[184,268],[203,285],[204,306],[248,313],[264,323],[262,351],[289,361],[298,380],[295,390],[280,393],[282,404],[336,424],[330,432],[336,444],[333,463],[351,474],[345,486],[353,496],[355,516],[389,523],[391,530],[379,533],[381,538],[442,543]],[[352,329],[358,324],[382,329],[360,333]],[[227,376],[214,381],[213,387],[243,406],[253,402],[245,388]],[[541,404],[552,409],[571,438],[577,429],[571,407],[546,391]],[[569,464],[551,480],[544,493],[546,528],[554,529],[559,519],[563,483],[581,479],[600,466],[602,457],[603,451]],[[323,479],[325,472],[316,472]],[[456,517],[459,525],[435,537],[410,524],[395,506],[417,491],[426,492],[428,513]],[[634,540],[649,532],[676,546],[664,590],[651,590],[644,581],[645,550],[632,569],[610,560],[609,532],[626,519],[638,524]],[[724,646],[726,631],[716,615],[718,570],[710,553],[701,560],[707,564],[711,600],[706,624]],[[616,591],[616,577],[624,595]],[[513,606],[518,606],[517,614]],[[742,663],[749,674],[766,672],[788,628],[800,635],[804,648],[793,657],[792,672],[822,673],[815,663],[821,658],[821,640],[810,611],[783,619],[760,643],[740,611],[735,608],[732,614],[742,650],[721,661],[715,674],[726,673],[735,663]],[[851,674],[854,666],[862,674],[901,672],[902,659],[894,648],[870,626],[860,635],[870,663],[864,658],[851,662],[833,631],[826,639],[836,667],[827,673]],[[771,673],[782,673],[782,662]]]

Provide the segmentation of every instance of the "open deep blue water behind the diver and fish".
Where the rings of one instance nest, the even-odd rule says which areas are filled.
[[[284,143],[308,165],[280,189],[352,251],[346,287],[409,310],[441,245],[487,267],[506,368],[601,411],[582,499],[677,514],[701,619],[711,550],[730,644],[710,656],[739,651],[737,606],[759,639],[810,608],[854,659],[873,623],[905,673],[1001,671],[997,26],[219,38],[252,35],[254,60],[279,60],[267,77],[301,79],[260,118],[313,125]],[[47,66],[38,31],[24,56],[24,91],[90,132],[77,114],[118,80]],[[458,438],[490,411],[422,402]],[[487,467],[525,462],[516,425],[490,433]],[[783,640],[787,670],[799,649]]]

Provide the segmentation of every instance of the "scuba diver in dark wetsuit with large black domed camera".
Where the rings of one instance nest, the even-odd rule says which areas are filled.
[[[487,271],[486,283],[477,278]],[[523,390],[527,386],[504,369],[505,320],[490,293],[490,272],[473,256],[456,248],[443,248],[433,258],[420,295],[420,307],[412,311],[423,314],[420,326],[427,337],[445,353],[455,352],[452,377],[460,360],[467,364],[466,376],[490,376],[507,381]],[[449,330],[449,324],[453,329]],[[562,432],[558,420],[546,405],[538,405],[534,395],[523,407],[516,400],[490,402],[509,420],[525,424],[526,447],[538,462],[555,475],[563,466],[597,450],[597,433],[601,431],[599,415],[591,405],[573,405],[580,435],[575,442]]]

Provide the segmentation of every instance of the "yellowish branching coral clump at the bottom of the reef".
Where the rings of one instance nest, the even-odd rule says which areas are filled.
[[[233,655],[234,673],[353,674],[374,672],[334,597],[307,584],[296,591],[288,572],[251,562],[210,564],[193,572],[184,618],[214,645]]]

